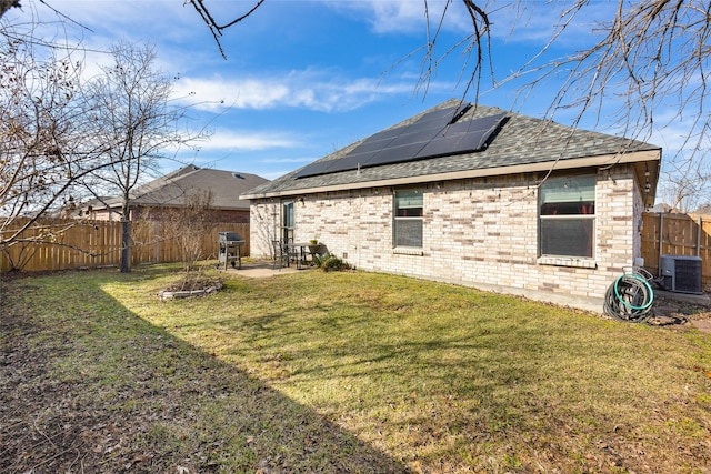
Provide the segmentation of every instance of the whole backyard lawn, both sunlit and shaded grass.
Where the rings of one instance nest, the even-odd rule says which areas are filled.
[[[2,283],[2,472],[711,470],[711,334],[362,272]]]

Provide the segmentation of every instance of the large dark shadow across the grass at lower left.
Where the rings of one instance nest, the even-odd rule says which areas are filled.
[[[3,283],[1,472],[408,472],[127,311],[109,278]]]

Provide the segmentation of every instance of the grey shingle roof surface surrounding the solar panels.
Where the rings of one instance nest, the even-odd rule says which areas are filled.
[[[459,100],[452,99],[428,111],[408,119],[395,127],[413,123],[424,113],[457,105]],[[473,105],[458,122],[470,121],[497,113],[505,112],[508,120],[493,135],[488,148],[472,153],[453,154],[422,159],[393,164],[385,164],[360,170],[342,171],[294,179],[299,170],[294,170],[274,181],[264,183],[249,191],[251,198],[298,193],[299,190],[318,190],[373,183],[378,181],[417,178],[444,173],[457,173],[471,170],[500,169],[531,163],[545,163],[578,158],[614,155],[617,153],[660,150],[660,147],[637,140],[624,139],[599,132],[578,130],[551,121],[525,117],[502,109]],[[347,155],[364,140],[352,143],[318,161],[338,160]]]

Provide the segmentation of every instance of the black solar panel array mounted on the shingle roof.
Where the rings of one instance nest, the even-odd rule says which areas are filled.
[[[342,158],[311,163],[294,178],[480,151],[505,113],[457,122],[469,107],[471,104],[437,110],[409,125],[375,133]]]

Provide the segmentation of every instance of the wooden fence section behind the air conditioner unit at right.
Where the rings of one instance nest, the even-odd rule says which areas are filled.
[[[660,255],[700,256],[702,284],[711,288],[711,215],[642,214],[642,256],[654,275]]]

